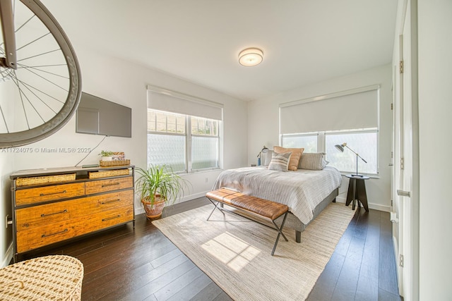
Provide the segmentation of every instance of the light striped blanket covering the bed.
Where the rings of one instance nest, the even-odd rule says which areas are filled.
[[[213,190],[229,188],[261,199],[287,204],[292,214],[307,224],[314,208],[342,183],[334,167],[322,171],[272,171],[265,166],[235,168],[222,171]]]

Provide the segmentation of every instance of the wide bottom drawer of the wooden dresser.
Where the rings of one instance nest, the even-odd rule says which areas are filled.
[[[27,252],[69,238],[133,220],[133,206],[120,207],[59,223],[35,227],[16,234],[16,252]]]

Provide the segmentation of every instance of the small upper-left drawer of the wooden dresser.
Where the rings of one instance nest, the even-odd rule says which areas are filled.
[[[16,206],[85,195],[85,183],[49,185],[16,190]]]

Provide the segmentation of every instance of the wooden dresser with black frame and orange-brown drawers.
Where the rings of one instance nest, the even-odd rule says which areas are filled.
[[[14,259],[133,222],[134,166],[44,168],[11,174]]]

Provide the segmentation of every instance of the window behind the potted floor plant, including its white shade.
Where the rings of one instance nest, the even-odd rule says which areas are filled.
[[[148,165],[191,173],[220,166],[223,105],[148,85]]]

